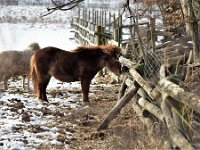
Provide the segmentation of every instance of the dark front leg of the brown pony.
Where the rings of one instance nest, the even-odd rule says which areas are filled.
[[[89,79],[81,80],[81,88],[82,88],[82,92],[83,92],[83,103],[85,103],[85,104],[90,103],[89,98],[88,98],[90,82],[91,82],[91,80],[89,80]]]

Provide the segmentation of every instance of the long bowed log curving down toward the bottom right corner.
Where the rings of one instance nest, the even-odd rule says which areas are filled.
[[[165,117],[165,121],[169,130],[169,135],[172,141],[180,148],[192,150],[193,147],[190,143],[185,139],[185,137],[177,130],[174,121],[171,116],[169,102],[167,101],[167,95],[163,95],[163,101],[161,103],[161,108],[163,115]]]

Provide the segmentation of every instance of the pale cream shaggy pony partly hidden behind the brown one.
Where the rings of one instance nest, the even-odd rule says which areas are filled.
[[[8,80],[20,75],[23,76],[23,89],[25,89],[25,77],[29,74],[30,58],[38,49],[40,49],[38,43],[31,43],[24,51],[10,50],[0,53],[0,81],[4,82],[5,90],[8,89]]]

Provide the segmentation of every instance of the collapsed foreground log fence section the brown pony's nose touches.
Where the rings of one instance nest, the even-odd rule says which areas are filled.
[[[120,91],[120,93],[125,93],[124,91],[127,88],[129,90],[120,96],[116,105],[109,111],[97,130],[105,129],[123,106],[134,98],[137,93],[140,95],[140,98],[134,99],[133,108],[137,109],[136,113],[139,112],[138,115],[141,115],[141,112],[144,110],[148,111],[162,123],[166,123],[169,135],[176,146],[181,149],[194,149],[191,144],[191,124],[187,120],[188,118],[184,117],[185,114],[182,108],[186,105],[191,110],[199,113],[200,97],[186,92],[162,75],[159,84],[152,88],[148,81],[134,69],[137,68],[136,63],[130,62],[130,60],[124,57],[120,57],[120,62],[129,68],[128,73],[132,78],[124,79],[122,84],[123,88],[121,88],[123,91]],[[163,71],[165,70],[161,67],[160,72],[162,73]],[[140,92],[139,89],[142,89],[143,92]],[[160,105],[158,105],[158,101],[160,101]]]

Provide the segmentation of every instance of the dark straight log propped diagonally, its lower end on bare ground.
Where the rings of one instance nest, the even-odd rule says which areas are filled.
[[[120,112],[120,110],[133,98],[137,93],[138,88],[134,85],[129,91],[116,103],[116,105],[108,112],[105,119],[101,122],[97,131],[107,128],[108,124],[114,119],[114,117]]]

